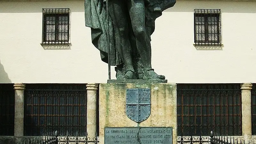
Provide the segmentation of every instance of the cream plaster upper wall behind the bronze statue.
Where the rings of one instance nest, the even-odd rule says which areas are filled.
[[[42,8],[70,8],[70,50],[44,50]],[[222,49],[194,43],[196,8],[221,9]],[[0,2],[0,83],[106,83],[84,1]],[[173,83],[256,83],[256,1],[177,0],[156,20],[152,66]],[[112,78],[115,78],[112,67]]]

